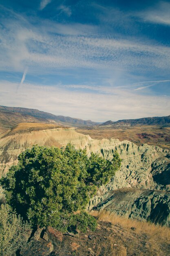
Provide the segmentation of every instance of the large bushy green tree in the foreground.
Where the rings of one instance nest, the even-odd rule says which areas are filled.
[[[112,161],[94,153],[89,158],[86,149],[71,144],[65,150],[33,146],[19,155],[18,164],[0,182],[7,202],[32,225],[66,230],[71,222],[75,225],[75,218],[79,222],[80,215],[73,213],[86,207],[120,163],[117,153]]]

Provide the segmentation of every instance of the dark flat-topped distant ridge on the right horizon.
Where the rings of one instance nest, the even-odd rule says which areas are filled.
[[[170,115],[168,117],[146,117],[139,119],[124,119],[119,121],[106,121],[99,126],[141,126],[141,125],[161,125],[161,126],[170,126]]]

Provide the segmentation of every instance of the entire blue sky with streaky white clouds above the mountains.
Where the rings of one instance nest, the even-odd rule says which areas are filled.
[[[170,115],[170,2],[0,0],[0,105],[99,122]]]

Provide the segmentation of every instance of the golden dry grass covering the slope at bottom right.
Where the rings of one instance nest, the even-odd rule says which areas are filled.
[[[170,228],[130,220],[108,211],[92,211],[100,222],[110,222],[110,235],[97,249],[101,256],[169,256]]]

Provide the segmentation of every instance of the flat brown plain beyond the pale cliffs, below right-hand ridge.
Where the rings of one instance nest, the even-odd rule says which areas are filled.
[[[93,126],[91,128],[77,128],[77,132],[89,135],[93,139],[115,138],[120,141],[128,140],[137,145],[144,143],[161,148],[170,149],[170,127],[160,126],[133,126],[131,128],[119,128],[107,126]]]

